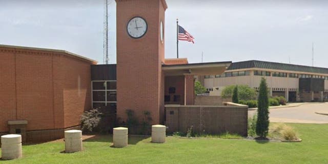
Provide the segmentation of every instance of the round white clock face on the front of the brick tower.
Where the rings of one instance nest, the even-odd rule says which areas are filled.
[[[133,38],[140,38],[147,32],[147,22],[142,17],[133,17],[127,26],[128,34]]]

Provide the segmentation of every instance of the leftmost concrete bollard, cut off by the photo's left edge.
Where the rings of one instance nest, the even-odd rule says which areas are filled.
[[[22,136],[8,134],[1,136],[1,157],[4,160],[22,157]]]

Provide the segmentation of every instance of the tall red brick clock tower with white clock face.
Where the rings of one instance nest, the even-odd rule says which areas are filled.
[[[150,111],[152,124],[164,117],[165,0],[116,0],[117,118],[126,110],[141,121]]]

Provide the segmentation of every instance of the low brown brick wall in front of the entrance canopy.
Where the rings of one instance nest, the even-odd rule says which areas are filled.
[[[248,107],[236,106],[166,106],[168,132],[220,134],[224,132],[247,136]]]

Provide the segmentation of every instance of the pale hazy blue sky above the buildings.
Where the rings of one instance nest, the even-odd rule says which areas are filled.
[[[110,0],[110,63],[116,63]],[[176,18],[196,38],[180,42],[190,63],[265,60],[328,67],[325,1],[167,0],[166,58],[176,57]],[[64,49],[103,63],[103,0],[0,1],[0,44]]]

